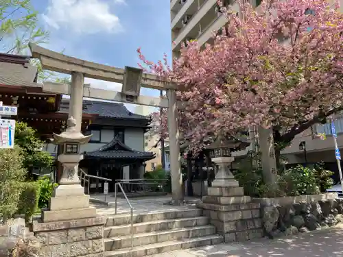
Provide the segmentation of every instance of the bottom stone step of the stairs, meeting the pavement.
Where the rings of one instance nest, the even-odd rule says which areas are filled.
[[[163,252],[176,251],[180,249],[189,249],[189,248],[201,247],[205,245],[217,245],[217,244],[222,243],[223,240],[224,240],[223,236],[220,236],[218,234],[213,234],[211,236],[183,238],[183,239],[167,241],[163,243],[152,243],[149,245],[133,247],[132,251],[131,251],[131,248],[108,251],[106,252],[106,257],[150,256],[154,254],[161,254]]]

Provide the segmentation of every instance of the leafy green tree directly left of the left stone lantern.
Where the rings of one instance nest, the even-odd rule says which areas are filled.
[[[14,143],[23,150],[24,167],[51,167],[54,162],[52,156],[43,151],[44,143],[36,134],[34,128],[27,123],[17,122]]]

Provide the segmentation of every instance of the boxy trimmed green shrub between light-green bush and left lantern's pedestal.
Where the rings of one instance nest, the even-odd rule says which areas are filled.
[[[18,213],[25,215],[25,222],[29,222],[29,219],[38,210],[39,194],[40,188],[37,182],[23,182],[21,184]]]

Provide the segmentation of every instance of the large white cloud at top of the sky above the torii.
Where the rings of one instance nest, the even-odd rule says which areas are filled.
[[[105,0],[50,0],[43,19],[55,29],[64,28],[82,34],[123,30],[119,18],[110,11],[110,4]]]

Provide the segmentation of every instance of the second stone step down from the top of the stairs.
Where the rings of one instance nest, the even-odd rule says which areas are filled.
[[[134,234],[146,233],[153,231],[170,230],[173,228],[189,228],[197,225],[208,225],[209,218],[207,217],[189,217],[181,219],[165,219],[157,221],[148,221],[143,223],[135,223],[133,225]],[[105,238],[113,236],[125,236],[131,234],[131,224],[128,225],[117,225],[113,227],[105,228]]]

